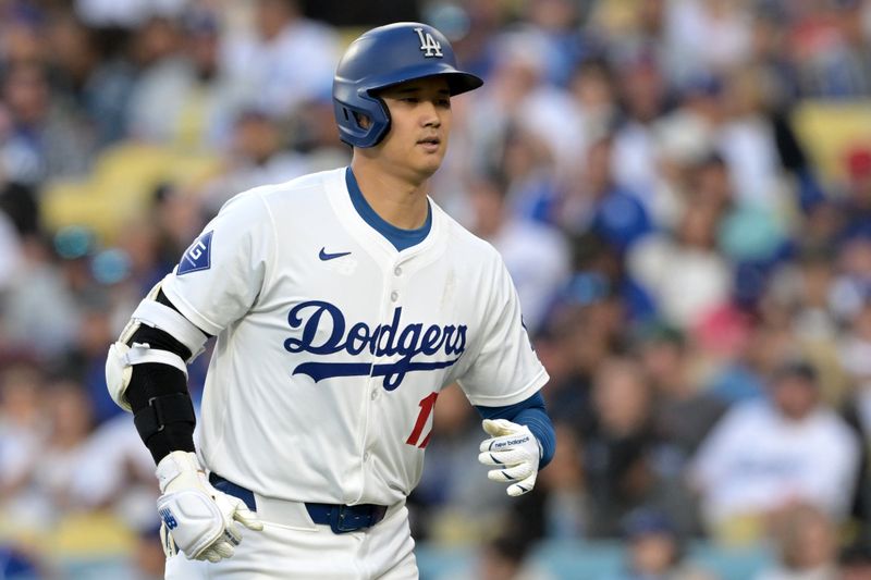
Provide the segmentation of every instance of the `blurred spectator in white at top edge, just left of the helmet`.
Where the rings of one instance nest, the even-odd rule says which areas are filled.
[[[303,16],[297,0],[256,0],[255,28],[226,36],[223,65],[230,82],[245,88],[250,104],[274,119],[332,84],[339,63],[335,30]]]

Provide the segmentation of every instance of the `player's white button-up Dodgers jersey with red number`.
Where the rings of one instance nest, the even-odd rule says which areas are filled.
[[[500,256],[430,207],[397,251],[340,169],[241,194],[205,227],[162,287],[218,336],[209,469],[282,499],[391,505],[420,478],[443,386],[504,406],[547,382]]]

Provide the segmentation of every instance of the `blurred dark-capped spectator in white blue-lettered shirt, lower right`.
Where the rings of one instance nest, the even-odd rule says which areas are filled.
[[[787,361],[770,390],[770,402],[736,405],[691,467],[708,529],[721,540],[758,539],[768,518],[790,503],[809,503],[835,521],[849,507],[858,442],[820,402],[814,369]]]

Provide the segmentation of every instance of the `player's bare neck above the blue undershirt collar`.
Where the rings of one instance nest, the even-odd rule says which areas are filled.
[[[358,158],[352,161],[351,170],[363,197],[382,220],[403,230],[422,227],[429,211],[429,180],[417,182]]]

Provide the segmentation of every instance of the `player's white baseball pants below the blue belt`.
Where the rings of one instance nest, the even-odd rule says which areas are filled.
[[[258,513],[259,515],[259,513]],[[262,531],[243,528],[232,558],[217,564],[167,559],[167,580],[416,580],[414,540],[405,505],[390,508],[366,530],[336,534],[311,522],[305,506],[286,503],[282,523],[263,521]]]

